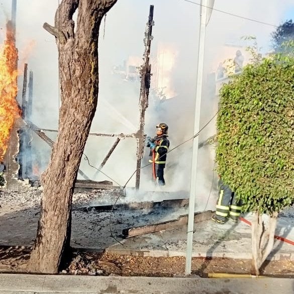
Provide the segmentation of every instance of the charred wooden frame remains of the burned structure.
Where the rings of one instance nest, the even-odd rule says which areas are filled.
[[[16,55],[13,61],[14,70],[18,70],[18,55],[16,49],[16,0],[13,0],[12,4],[12,20],[8,22],[7,26],[7,39],[12,41],[15,48]],[[105,133],[90,133],[90,136],[101,136],[101,137],[116,137],[115,142],[106,154],[105,158],[97,168],[96,173],[104,167],[108,159],[112,155],[115,148],[120,143],[121,139],[124,138],[135,138],[137,141],[137,165],[136,165],[136,188],[140,185],[140,167],[141,159],[143,157],[143,150],[145,145],[145,134],[144,134],[144,124],[145,124],[145,111],[148,107],[148,95],[150,88],[150,77],[151,77],[151,65],[149,61],[150,56],[150,46],[152,40],[152,26],[153,22],[153,6],[150,6],[149,18],[146,25],[145,38],[144,38],[144,54],[143,54],[143,65],[140,68],[141,77],[141,88],[140,88],[140,98],[139,98],[139,129],[137,132],[132,134],[105,134]],[[17,86],[16,92],[14,93],[13,99],[16,102],[15,118],[13,127],[10,129],[10,136],[7,140],[7,150],[3,152],[5,156],[3,161],[6,165],[6,188],[16,189],[22,186],[24,179],[29,179],[31,183],[39,184],[39,179],[42,170],[40,169],[42,158],[38,154],[38,148],[34,141],[39,141],[38,144],[46,143],[48,147],[52,148],[54,145],[54,140],[46,135],[47,132],[57,133],[56,130],[42,129],[32,121],[34,121],[33,114],[33,79],[34,74],[32,70],[28,69],[28,63],[24,64],[23,68],[23,84],[22,92],[19,91],[19,99],[17,100]],[[11,73],[12,75],[12,73]],[[17,75],[15,76],[15,85],[17,85]],[[40,143],[42,142],[42,143]],[[92,186],[93,181],[82,171],[78,170],[78,173],[84,178],[85,186]],[[20,181],[21,180],[21,181]],[[105,182],[105,181],[104,181]],[[109,186],[109,181],[106,181]],[[79,181],[79,186],[82,185],[82,181]],[[101,183],[103,185],[103,183]],[[100,182],[95,182],[95,187],[100,187]]]

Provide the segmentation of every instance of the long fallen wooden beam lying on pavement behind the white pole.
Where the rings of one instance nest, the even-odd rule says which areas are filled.
[[[212,211],[198,212],[194,214],[194,223],[210,220]],[[166,221],[158,224],[147,225],[143,227],[135,227],[123,230],[123,237],[130,238],[148,233],[168,230],[174,227],[184,226],[188,223],[188,215],[179,216],[176,220]]]

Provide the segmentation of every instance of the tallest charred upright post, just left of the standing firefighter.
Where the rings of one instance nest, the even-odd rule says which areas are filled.
[[[141,66],[140,75],[141,75],[141,88],[140,88],[140,127],[137,135],[137,170],[136,170],[136,189],[139,189],[140,186],[140,174],[141,174],[141,160],[143,157],[144,145],[145,145],[145,134],[144,134],[144,125],[145,125],[145,111],[148,107],[148,96],[150,88],[150,77],[151,77],[151,65],[149,63],[150,56],[150,46],[152,37],[152,26],[154,26],[153,21],[153,10],[154,6],[150,5],[148,23],[146,25],[144,45],[145,51],[143,54],[144,64]]]

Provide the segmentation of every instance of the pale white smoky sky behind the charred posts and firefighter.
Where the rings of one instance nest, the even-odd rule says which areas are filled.
[[[172,85],[176,92],[173,99],[156,103],[150,98],[146,111],[145,131],[155,135],[155,125],[165,122],[169,125],[171,148],[193,135],[194,103],[196,91],[197,57],[200,23],[200,0],[118,0],[102,21],[99,38],[100,92],[97,111],[91,132],[133,133],[138,129],[139,82],[116,80],[112,68],[123,64],[129,56],[141,57],[144,52],[143,37],[149,14],[149,6],[154,5],[154,22],[151,57],[156,57],[160,45],[174,50],[175,60],[171,70]],[[17,3],[17,47],[19,49],[19,88],[23,80],[22,68],[28,63],[34,72],[33,123],[45,129],[57,129],[59,86],[58,53],[54,37],[42,26],[44,22],[54,24],[54,14],[58,1],[18,0]],[[201,126],[216,113],[217,100],[208,99],[210,91],[208,74],[216,70],[219,62],[230,57],[224,53],[228,44],[244,46],[242,36],[255,36],[262,52],[270,50],[270,33],[275,26],[287,19],[294,19],[292,0],[215,0],[211,20],[207,26],[205,47],[205,80],[202,97]],[[227,12],[223,13],[223,12]],[[10,18],[11,0],[0,0],[0,43],[5,38],[5,24]],[[234,16],[236,15],[236,16]],[[243,18],[240,18],[241,16]],[[244,19],[247,18],[247,19]],[[255,21],[250,21],[253,19]],[[261,23],[259,23],[261,22]],[[269,25],[263,24],[267,23]],[[234,49],[235,50],[235,49]],[[227,54],[227,55],[226,55]],[[231,53],[230,53],[231,54]],[[233,57],[233,56],[232,56]],[[202,132],[200,141],[216,132],[215,121]],[[47,133],[54,139],[54,133]],[[35,139],[44,168],[48,162],[50,149]],[[114,138],[89,137],[85,154],[94,166],[104,159]],[[177,192],[179,198],[186,195],[190,186],[191,149],[189,141],[168,154],[165,169],[167,185],[164,191]],[[43,151],[43,152],[42,152]],[[148,161],[146,152],[142,163]],[[93,178],[95,169],[82,159],[80,168],[94,180],[108,179],[100,173]],[[136,168],[136,141],[125,139],[120,142],[103,171],[120,184],[124,184]],[[199,209],[203,209],[211,197],[212,183],[216,181],[214,172],[214,149],[205,147],[199,152],[198,197]],[[141,187],[150,189],[151,170],[142,169]],[[130,186],[134,185],[132,178]],[[213,184],[215,187],[215,184]],[[155,187],[154,187],[155,188]],[[156,189],[156,188],[155,188]],[[211,205],[216,197],[213,190]]]

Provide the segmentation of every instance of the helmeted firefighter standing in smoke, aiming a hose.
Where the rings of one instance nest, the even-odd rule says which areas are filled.
[[[166,153],[169,147],[167,132],[167,124],[158,124],[156,126],[156,136],[152,139],[150,137],[147,137],[146,145],[147,147],[150,147],[149,162],[152,162],[153,178],[156,179],[157,183],[162,186],[165,185],[163,174],[166,162]],[[156,167],[157,173],[155,172]]]

